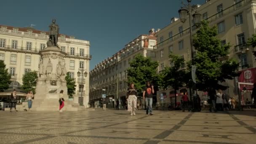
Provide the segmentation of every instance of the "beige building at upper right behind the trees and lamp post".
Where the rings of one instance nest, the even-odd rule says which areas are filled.
[[[203,5],[192,7],[192,14],[197,11],[201,14],[201,19],[209,21],[210,26],[217,26],[218,37],[222,44],[230,43],[229,55],[220,59],[237,59],[240,62],[238,70],[256,67],[253,49],[245,45],[248,38],[255,34],[255,7],[255,0],[208,0]],[[192,34],[195,34],[197,29],[192,19]],[[157,32],[155,36],[158,41],[158,44],[155,45],[155,60],[159,61],[158,72],[164,67],[171,67],[168,58],[170,51],[183,56],[185,61],[191,60],[189,16],[187,16],[185,23],[182,23],[178,18],[171,19],[171,23]],[[185,67],[186,65],[184,65]],[[229,86],[226,91],[229,96],[237,97],[237,85],[234,80],[227,80],[224,85]],[[166,95],[165,103],[172,102],[174,104],[173,89],[159,91],[157,93],[158,98],[161,94]]]

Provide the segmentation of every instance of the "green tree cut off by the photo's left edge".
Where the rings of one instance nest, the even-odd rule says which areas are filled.
[[[0,91],[4,91],[9,88],[11,83],[11,75],[8,73],[8,69],[5,69],[5,63],[0,60]]]

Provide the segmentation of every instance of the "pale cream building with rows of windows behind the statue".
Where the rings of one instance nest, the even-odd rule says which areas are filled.
[[[21,28],[0,25],[0,60],[6,64],[11,74],[11,80],[16,80],[22,85],[22,77],[26,72],[38,71],[39,51],[46,48],[48,32],[34,28]],[[89,76],[77,77],[77,72],[89,70],[91,59],[90,42],[78,40],[75,37],[59,35],[58,40],[61,51],[67,53],[65,58],[66,69],[76,81],[75,99],[82,96],[83,104],[87,106],[89,95]],[[84,86],[82,86],[84,85]]]

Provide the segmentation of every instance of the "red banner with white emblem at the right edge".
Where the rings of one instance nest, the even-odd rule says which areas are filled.
[[[241,72],[238,82],[241,83],[256,83],[256,67],[251,69],[245,69]],[[242,91],[243,88],[246,88],[247,91],[253,89],[253,85],[240,85],[240,90]]]

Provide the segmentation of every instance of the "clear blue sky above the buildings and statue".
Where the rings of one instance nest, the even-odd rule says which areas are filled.
[[[91,42],[91,70],[149,29],[168,25],[180,6],[181,0],[2,0],[0,24],[48,31],[56,18],[60,33]]]

